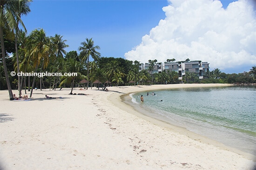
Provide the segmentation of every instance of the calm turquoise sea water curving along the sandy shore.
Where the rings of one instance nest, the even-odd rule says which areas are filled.
[[[154,92],[156,95],[152,91],[148,96],[147,92],[131,94],[133,105],[150,117],[256,155],[255,86]]]

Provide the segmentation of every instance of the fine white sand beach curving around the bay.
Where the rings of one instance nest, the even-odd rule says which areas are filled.
[[[254,156],[143,116],[120,98],[209,86],[227,85],[74,88],[88,95],[44,89],[30,101],[9,101],[8,91],[0,91],[0,170],[255,170]]]

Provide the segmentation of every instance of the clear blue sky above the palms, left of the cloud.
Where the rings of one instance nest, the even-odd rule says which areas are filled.
[[[233,1],[221,0],[223,8]],[[162,7],[169,4],[168,0],[34,0],[31,12],[22,20],[28,34],[43,28],[47,36],[62,35],[69,45],[67,52],[78,51],[82,41],[93,38],[102,57],[125,58],[125,53],[141,44],[141,38],[166,18]]]

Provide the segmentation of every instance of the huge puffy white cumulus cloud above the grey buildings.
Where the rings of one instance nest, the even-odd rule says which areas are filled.
[[[228,70],[256,65],[256,12],[249,0],[224,9],[219,0],[169,0],[166,18],[141,38],[125,58],[148,63],[189,58]]]

